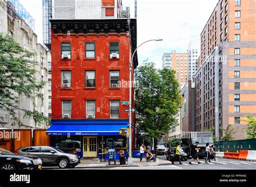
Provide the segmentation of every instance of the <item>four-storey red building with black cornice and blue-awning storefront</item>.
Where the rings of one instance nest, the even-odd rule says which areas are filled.
[[[136,19],[52,19],[52,145],[80,156],[107,148],[128,150],[120,128],[129,125],[129,62],[136,49]],[[131,53],[130,49],[131,47]],[[133,70],[138,65],[133,59]],[[134,95],[132,88],[132,106]],[[135,115],[132,113],[132,124]],[[134,139],[134,131],[133,131]],[[132,143],[134,145],[134,143]]]

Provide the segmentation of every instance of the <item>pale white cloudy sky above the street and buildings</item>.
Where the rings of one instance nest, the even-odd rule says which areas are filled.
[[[42,0],[19,0],[36,21],[38,43],[43,42]],[[199,39],[218,0],[137,0],[137,44],[150,39],[138,49],[139,64],[149,59],[161,68],[164,53],[186,52],[192,39]],[[134,18],[134,0],[123,0],[130,5]]]

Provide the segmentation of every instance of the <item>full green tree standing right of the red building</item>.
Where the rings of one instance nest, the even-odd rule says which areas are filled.
[[[158,138],[177,124],[181,96],[175,71],[159,70],[146,62],[138,68],[135,96],[138,124],[148,134],[147,139],[154,139],[156,150]]]

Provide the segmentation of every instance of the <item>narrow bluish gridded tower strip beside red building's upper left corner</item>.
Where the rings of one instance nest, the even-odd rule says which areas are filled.
[[[51,50],[51,18],[52,0],[43,0],[43,44],[48,51]]]

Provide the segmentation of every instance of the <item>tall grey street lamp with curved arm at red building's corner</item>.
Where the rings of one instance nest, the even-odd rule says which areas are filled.
[[[131,58],[131,30],[130,30],[130,23],[131,23],[131,20],[130,19],[127,19],[127,23],[129,25],[129,38],[130,38],[130,47],[129,47],[129,51],[130,51],[130,83],[129,83],[129,128],[130,128],[130,134],[129,134],[129,157],[128,157],[128,164],[132,164],[132,112],[131,112],[131,107],[132,107],[132,64],[133,64],[133,57],[134,57],[134,54],[136,53],[137,49],[142,46],[143,44],[145,44],[146,42],[149,42],[149,41],[162,41],[163,39],[153,39],[153,40],[147,40],[145,42],[143,42],[142,44],[140,44],[133,52],[132,54],[132,58]]]

